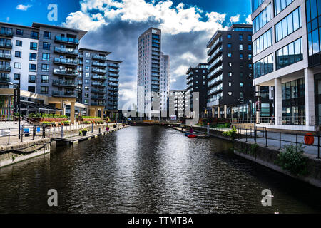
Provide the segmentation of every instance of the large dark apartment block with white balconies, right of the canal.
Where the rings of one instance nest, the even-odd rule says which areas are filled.
[[[252,26],[233,24],[218,30],[208,48],[208,115],[250,117],[254,100]]]

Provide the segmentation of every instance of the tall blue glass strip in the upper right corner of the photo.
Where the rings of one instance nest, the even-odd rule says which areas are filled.
[[[309,66],[316,66],[321,62],[321,0],[306,0],[305,8],[307,14]]]

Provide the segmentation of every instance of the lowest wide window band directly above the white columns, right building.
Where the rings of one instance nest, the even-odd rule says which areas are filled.
[[[276,68],[280,69],[303,59],[302,38],[276,51]]]

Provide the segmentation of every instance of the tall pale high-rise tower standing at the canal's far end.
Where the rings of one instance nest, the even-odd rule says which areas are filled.
[[[138,38],[137,104],[140,115],[152,118],[160,111],[167,111],[169,68],[169,56],[161,52],[161,29],[149,28]],[[159,97],[157,107],[152,105],[152,100],[156,100],[153,93]]]

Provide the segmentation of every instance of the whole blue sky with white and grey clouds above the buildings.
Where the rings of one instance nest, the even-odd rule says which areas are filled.
[[[136,103],[138,37],[162,29],[162,51],[170,56],[170,90],[186,88],[189,66],[206,62],[206,44],[217,29],[250,23],[250,0],[0,0],[0,21],[33,22],[88,31],[80,47],[112,52],[120,68],[118,109]],[[58,18],[49,21],[49,4]],[[5,9],[5,10],[4,10]]]

